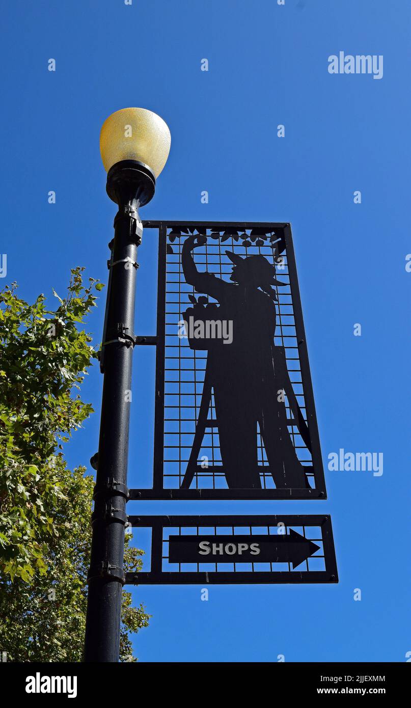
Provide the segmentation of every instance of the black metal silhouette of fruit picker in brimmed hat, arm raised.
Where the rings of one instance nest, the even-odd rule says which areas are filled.
[[[284,349],[274,346],[276,295],[271,285],[285,283],[275,278],[275,268],[264,256],[242,258],[231,251],[226,251],[226,255],[233,263],[232,282],[199,272],[192,251],[206,241],[205,236],[185,239],[183,273],[197,292],[207,293],[219,302],[218,319],[232,321],[233,341],[204,345],[208,353],[199,421],[202,418],[204,423],[207,418],[205,397],[211,397],[213,389],[222,469],[230,489],[261,489],[257,423],[275,486],[309,488],[306,471],[312,468],[303,467],[296,457],[281,391],[286,393],[294,424],[299,426],[310,449],[308,428],[289,380]],[[192,460],[182,488],[189,487],[194,476],[190,465],[192,468]]]

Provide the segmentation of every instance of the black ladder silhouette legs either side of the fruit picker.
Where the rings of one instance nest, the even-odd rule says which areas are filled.
[[[273,353],[274,353],[274,362],[276,365],[276,369],[279,371],[279,380],[284,382],[282,389],[284,390],[284,393],[286,394],[286,397],[289,402],[289,408],[291,410],[291,413],[293,413],[293,418],[287,418],[287,425],[288,426],[296,426],[299,430],[299,434],[301,435],[301,438],[303,439],[304,444],[307,447],[307,450],[311,452],[311,438],[310,438],[310,433],[308,430],[308,426],[306,421],[303,418],[303,414],[301,413],[301,409],[299,406],[299,402],[296,399],[296,394],[294,393],[294,389],[292,387],[291,381],[289,379],[289,373],[286,367],[286,356],[285,356],[285,351],[284,347],[279,347],[279,346],[274,346],[273,347]],[[198,465],[198,457],[199,457],[199,452],[202,447],[202,441],[204,440],[204,435],[206,432],[206,428],[218,428],[219,423],[216,418],[209,418],[209,409],[212,403],[212,377],[209,372],[209,360],[207,357],[207,365],[204,373],[204,384],[203,384],[203,389],[202,389],[202,397],[199,405],[199,413],[198,413],[198,418],[197,418],[197,423],[195,426],[195,435],[194,435],[194,440],[192,441],[192,448],[190,452],[190,457],[187,462],[187,468],[185,470],[185,474],[183,477],[183,481],[181,482],[180,489],[190,489],[190,486],[192,484],[192,480],[195,477],[195,474],[197,472],[202,472],[202,467],[199,467]],[[265,467],[262,465],[258,465],[261,469],[265,469],[267,471],[270,470],[270,467]],[[210,469],[207,467],[207,469]],[[216,467],[212,468],[212,471]],[[219,472],[224,472],[224,465],[218,466],[217,467]],[[309,468],[307,468],[309,469]],[[312,469],[312,468],[311,468]]]

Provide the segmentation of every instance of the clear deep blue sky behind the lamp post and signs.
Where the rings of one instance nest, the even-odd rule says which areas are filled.
[[[324,502],[130,503],[129,513],[331,513],[340,573],[337,586],[212,587],[208,602],[199,586],[135,588],[153,615],[135,641],[139,660],[405,661],[411,7],[22,0],[6,4],[2,19],[8,272],[0,285],[16,280],[28,300],[51,295],[77,264],[106,280],[115,205],[105,195],[100,126],[125,106],[154,110],[170,127],[171,151],[141,217],[291,222],[325,467],[340,447],[383,452],[380,477],[326,472]],[[340,50],[383,55],[383,78],[329,74],[328,57]],[[200,71],[202,58],[209,72]],[[154,232],[145,232],[139,262],[137,333],[154,334]],[[104,299],[89,323],[96,344]],[[154,353],[138,348],[134,356],[129,486],[143,486]],[[94,367],[83,397],[97,411],[101,385]],[[69,464],[88,464],[98,422],[96,413],[76,433]]]

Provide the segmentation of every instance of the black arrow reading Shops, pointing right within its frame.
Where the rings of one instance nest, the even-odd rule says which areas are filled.
[[[320,549],[293,529],[289,535],[170,536],[170,563],[291,563],[293,568]]]

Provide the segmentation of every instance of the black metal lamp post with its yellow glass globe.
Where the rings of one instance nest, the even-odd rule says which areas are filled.
[[[88,571],[85,661],[118,661],[123,571],[129,396],[132,386],[134,299],[137,247],[142,225],[139,207],[153,198],[156,177],[170,150],[170,131],[156,113],[124,108],[105,120],[100,151],[107,193],[118,205],[107,293],[103,399],[92,515]]]

